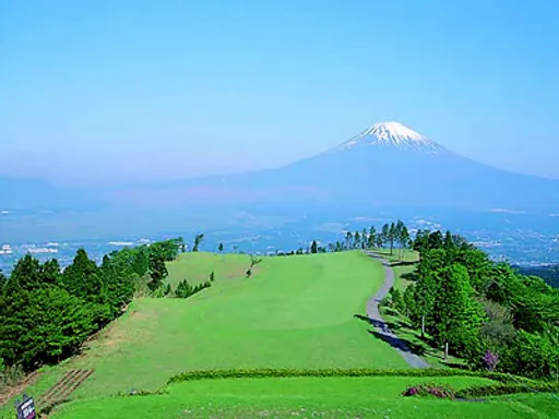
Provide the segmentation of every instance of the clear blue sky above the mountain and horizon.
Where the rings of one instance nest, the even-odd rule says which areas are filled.
[[[396,120],[559,178],[558,1],[0,0],[0,172],[278,166]]]

